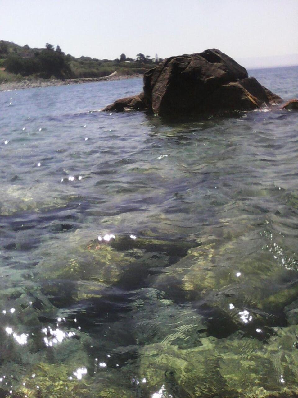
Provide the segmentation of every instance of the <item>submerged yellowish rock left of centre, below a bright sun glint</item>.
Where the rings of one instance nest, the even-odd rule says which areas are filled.
[[[107,287],[143,286],[149,275],[163,272],[199,245],[183,240],[111,236],[82,243],[86,236],[78,230],[43,244],[35,271],[43,293],[56,297],[55,305],[99,299],[106,295]]]

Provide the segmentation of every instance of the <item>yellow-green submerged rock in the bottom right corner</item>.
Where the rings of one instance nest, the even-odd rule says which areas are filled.
[[[140,375],[151,391],[164,384],[173,396],[296,396],[296,340],[294,327],[278,329],[267,344],[235,334],[180,349],[165,339],[140,349]]]

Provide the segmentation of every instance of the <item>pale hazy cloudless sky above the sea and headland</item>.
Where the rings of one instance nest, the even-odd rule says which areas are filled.
[[[0,39],[75,57],[298,54],[298,0],[0,0],[0,10]]]

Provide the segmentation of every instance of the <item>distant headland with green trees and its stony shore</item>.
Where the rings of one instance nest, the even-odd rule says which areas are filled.
[[[31,48],[0,40],[0,91],[140,77],[162,61],[142,53],[135,59],[124,53],[114,60],[75,58],[59,45]]]

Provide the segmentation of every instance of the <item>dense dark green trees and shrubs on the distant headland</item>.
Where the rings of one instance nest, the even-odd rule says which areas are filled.
[[[0,41],[0,81],[15,80],[23,77],[33,78],[97,78],[117,71],[119,74],[143,74],[161,62],[162,59],[151,59],[142,53],[135,59],[124,53],[114,60],[91,57],[75,58],[62,52],[59,45],[46,43],[45,48],[23,47],[8,41]]]

